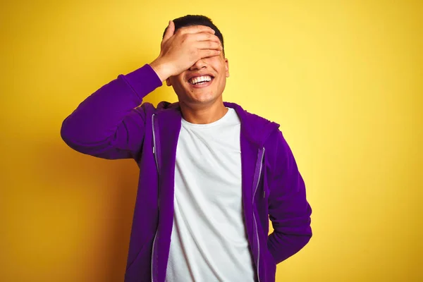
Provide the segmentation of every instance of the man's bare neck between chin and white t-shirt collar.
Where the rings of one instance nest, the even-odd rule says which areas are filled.
[[[180,104],[180,111],[185,121],[195,124],[207,124],[219,121],[228,112],[228,109],[219,101],[207,106],[192,107],[184,103]]]

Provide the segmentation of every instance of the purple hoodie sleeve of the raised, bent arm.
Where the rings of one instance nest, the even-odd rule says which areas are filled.
[[[118,75],[87,97],[63,121],[63,141],[94,157],[135,158],[145,133],[142,98],[161,85],[148,64],[127,75]]]

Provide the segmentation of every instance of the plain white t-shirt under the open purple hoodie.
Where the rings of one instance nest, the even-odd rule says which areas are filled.
[[[252,282],[243,223],[240,120],[182,120],[175,168],[175,213],[166,282]]]

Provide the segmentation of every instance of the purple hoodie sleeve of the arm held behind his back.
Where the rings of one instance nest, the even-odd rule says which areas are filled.
[[[274,232],[267,240],[276,264],[301,250],[312,237],[312,209],[306,199],[305,183],[280,131],[277,144],[276,171],[269,195],[269,218]]]

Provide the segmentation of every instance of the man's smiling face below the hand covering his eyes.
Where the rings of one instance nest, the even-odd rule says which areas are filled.
[[[172,85],[179,102],[193,106],[213,104],[221,99],[228,77],[228,59],[221,53],[197,61],[183,73],[168,78],[166,84]]]

